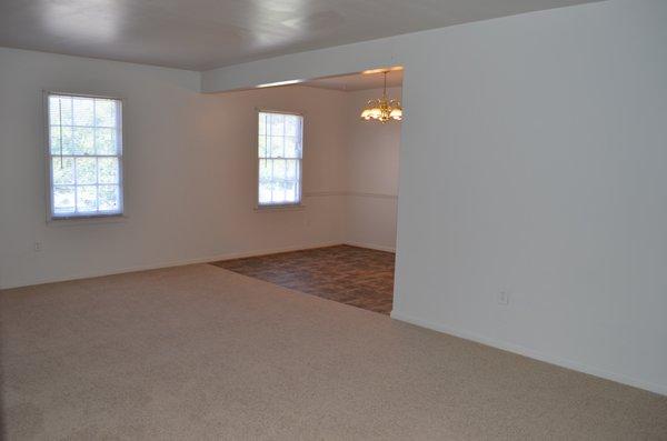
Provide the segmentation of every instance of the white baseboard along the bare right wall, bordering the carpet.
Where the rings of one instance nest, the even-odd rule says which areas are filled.
[[[631,385],[631,387],[635,387],[638,389],[644,389],[644,390],[647,390],[647,391],[650,391],[654,393],[659,393],[661,395],[667,395],[667,385],[655,384],[655,383],[646,382],[643,380],[637,380],[635,378],[630,378],[630,377],[627,377],[624,374],[609,372],[604,369],[593,368],[589,365],[578,363],[576,361],[561,359],[561,358],[555,357],[555,355],[549,355],[549,354],[546,354],[546,353],[542,353],[539,351],[535,351],[532,349],[525,348],[525,347],[521,347],[518,344],[508,343],[505,341],[499,341],[496,339],[478,335],[476,333],[468,332],[465,330],[454,329],[446,324],[436,323],[436,322],[432,322],[429,320],[422,320],[422,319],[419,319],[416,317],[405,314],[397,310],[391,311],[391,318],[396,319],[396,320],[405,321],[407,323],[416,324],[421,328],[428,328],[434,331],[444,332],[444,333],[447,333],[447,334],[450,334],[454,337],[458,337],[458,338],[466,339],[466,340],[471,340],[477,343],[481,343],[481,344],[486,344],[486,345],[494,347],[497,349],[501,349],[504,351],[514,352],[519,355],[528,357],[530,359],[544,361],[544,362],[547,362],[550,364],[556,364],[561,368],[571,369],[574,371],[584,372],[584,373],[587,373],[587,374],[590,374],[594,377],[599,377],[599,378],[603,378],[606,380],[611,380],[617,383],[623,383],[623,384]]]

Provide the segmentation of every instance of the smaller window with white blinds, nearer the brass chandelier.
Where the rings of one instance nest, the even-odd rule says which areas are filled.
[[[259,112],[259,207],[301,202],[303,117]]]

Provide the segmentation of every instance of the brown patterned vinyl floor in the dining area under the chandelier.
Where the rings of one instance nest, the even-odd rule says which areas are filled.
[[[382,314],[391,312],[395,254],[336,245],[212,264]]]

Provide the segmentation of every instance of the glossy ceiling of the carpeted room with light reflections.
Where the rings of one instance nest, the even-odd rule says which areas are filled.
[[[206,70],[598,0],[0,0],[0,46]]]

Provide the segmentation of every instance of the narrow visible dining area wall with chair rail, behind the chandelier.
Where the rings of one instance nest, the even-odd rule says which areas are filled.
[[[400,100],[400,88],[389,88]],[[348,92],[347,100],[347,216],[350,243],[392,251],[396,249],[398,158],[400,123],[369,123],[359,112],[382,89]]]

